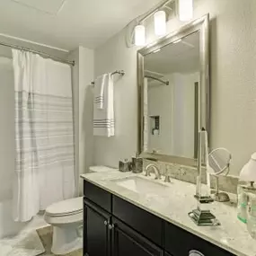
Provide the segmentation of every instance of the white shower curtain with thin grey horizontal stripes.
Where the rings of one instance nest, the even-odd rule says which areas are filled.
[[[71,68],[13,49],[16,159],[13,218],[74,197]]]

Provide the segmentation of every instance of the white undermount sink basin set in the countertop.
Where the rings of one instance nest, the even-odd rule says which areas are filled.
[[[160,194],[169,187],[158,183],[157,181],[150,181],[140,177],[130,177],[114,181],[117,185],[143,194]]]

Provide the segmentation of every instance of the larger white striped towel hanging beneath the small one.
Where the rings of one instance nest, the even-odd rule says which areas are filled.
[[[115,135],[114,88],[111,74],[105,77],[103,86],[103,108],[98,109],[98,102],[93,103],[93,135],[111,137]]]

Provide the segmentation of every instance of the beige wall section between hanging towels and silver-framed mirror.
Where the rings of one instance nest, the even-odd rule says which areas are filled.
[[[115,137],[94,137],[93,162],[112,167],[130,158],[137,150],[137,51],[128,49],[125,31],[121,31],[95,51],[95,77],[116,69],[126,75],[115,75]]]

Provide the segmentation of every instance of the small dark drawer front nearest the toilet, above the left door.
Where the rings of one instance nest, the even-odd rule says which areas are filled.
[[[106,190],[102,190],[92,183],[84,181],[84,197],[109,213],[111,212],[111,194]]]

